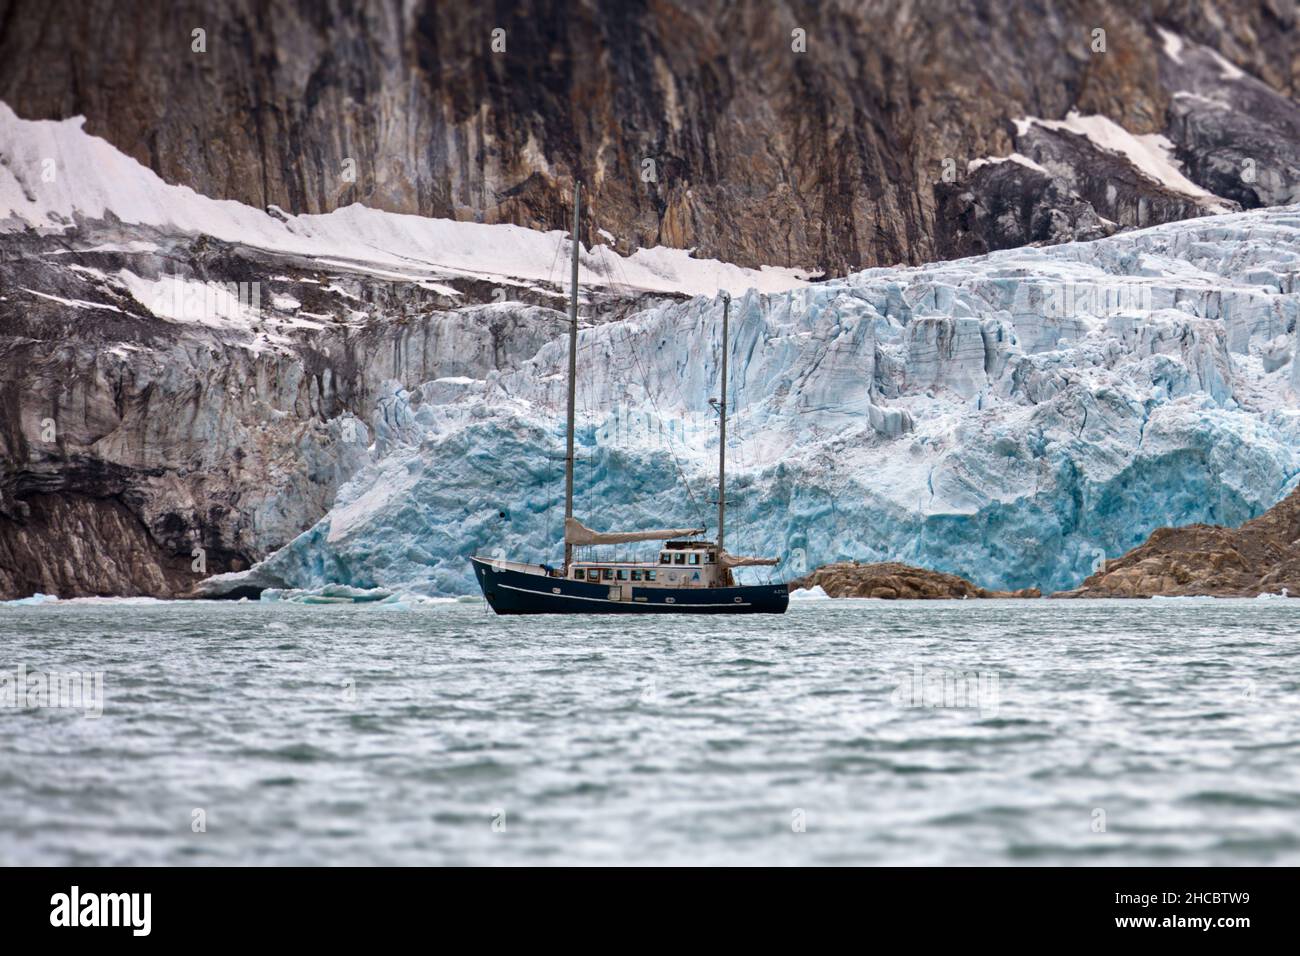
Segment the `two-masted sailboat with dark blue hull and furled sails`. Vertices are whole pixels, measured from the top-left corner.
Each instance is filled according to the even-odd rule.
[[[718,540],[703,528],[593,531],[573,516],[573,405],[577,381],[577,264],[581,183],[573,185],[573,264],[569,285],[568,431],[564,455],[564,564],[549,567],[474,555],[469,561],[488,604],[498,614],[783,614],[785,584],[737,584],[732,568],[772,566],[779,558],[746,558],[723,546],[727,527],[727,320],[723,293],[722,398],[718,433]],[[650,561],[576,559],[573,549],[660,541]]]

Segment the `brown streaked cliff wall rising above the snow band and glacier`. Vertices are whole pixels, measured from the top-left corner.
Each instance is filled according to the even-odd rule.
[[[1173,62],[1157,25],[1261,82],[1225,86],[1201,69],[1208,52]],[[1169,131],[1199,183],[1282,202],[1300,150],[1278,126],[1295,117],[1297,48],[1286,0],[0,0],[0,99],[29,118],[83,113],[168,181],[259,208],[360,202],[554,229],[581,177],[588,238],[841,274],[1088,238],[1082,202],[1119,226],[1193,215],[1148,181],[1117,200],[1140,216],[1095,203],[1096,182],[1027,179],[1024,196],[1008,195],[1011,170],[944,182],[945,160],[1009,153],[1023,116],[1075,108]],[[1231,109],[1205,113],[1184,86]],[[1270,126],[1268,144],[1254,134]],[[1238,189],[1251,156],[1258,185]],[[962,219],[984,225],[953,229]]]

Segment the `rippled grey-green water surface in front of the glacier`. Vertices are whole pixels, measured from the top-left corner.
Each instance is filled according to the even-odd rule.
[[[104,700],[0,708],[4,864],[1300,862],[1295,601],[0,606],[20,666]]]

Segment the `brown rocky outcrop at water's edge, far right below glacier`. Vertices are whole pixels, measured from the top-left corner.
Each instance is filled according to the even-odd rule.
[[[1053,597],[1300,597],[1300,489],[1239,528],[1158,528]]]

